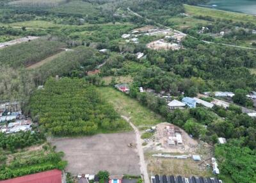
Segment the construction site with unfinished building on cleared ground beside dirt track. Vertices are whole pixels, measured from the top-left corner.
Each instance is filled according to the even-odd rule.
[[[147,142],[144,151],[150,173],[212,175],[212,147],[170,123],[156,126],[154,137]]]

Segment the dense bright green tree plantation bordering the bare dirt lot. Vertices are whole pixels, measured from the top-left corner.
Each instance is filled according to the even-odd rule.
[[[34,120],[57,136],[122,131],[128,126],[83,79],[48,79],[44,89],[33,93],[30,107]]]

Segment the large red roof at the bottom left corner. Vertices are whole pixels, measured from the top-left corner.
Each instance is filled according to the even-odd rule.
[[[49,170],[14,179],[2,180],[0,183],[61,183],[61,171]]]

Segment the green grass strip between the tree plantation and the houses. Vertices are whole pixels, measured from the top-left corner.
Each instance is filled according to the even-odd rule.
[[[163,122],[163,118],[159,115],[150,111],[147,107],[141,106],[137,100],[131,99],[131,97],[114,88],[101,87],[98,90],[108,102],[113,104],[120,115],[131,117],[132,123],[137,127],[152,126]]]

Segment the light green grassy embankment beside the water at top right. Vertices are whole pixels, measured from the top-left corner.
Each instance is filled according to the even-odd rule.
[[[228,20],[241,21],[241,22],[253,22],[256,24],[256,17],[253,15],[246,15],[243,13],[226,12],[223,10],[212,10],[210,8],[189,6],[188,4],[184,4],[184,8],[185,8],[186,13],[188,13],[189,15],[210,16],[215,19],[228,19]]]

